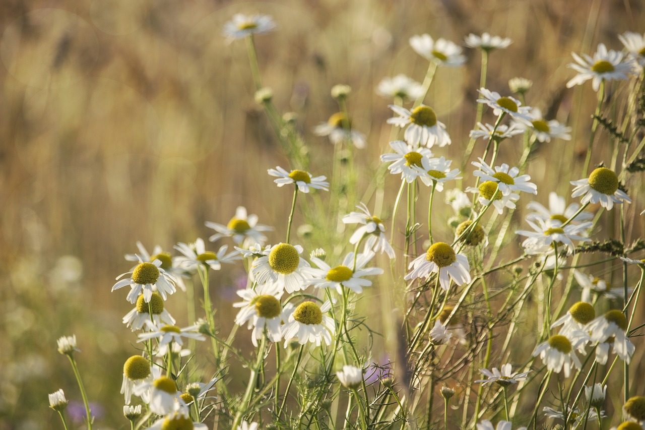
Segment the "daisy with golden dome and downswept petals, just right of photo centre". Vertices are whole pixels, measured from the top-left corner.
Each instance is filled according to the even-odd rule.
[[[405,280],[416,278],[429,278],[430,274],[436,272],[439,276],[439,283],[442,289],[448,291],[450,280],[457,285],[471,281],[470,265],[468,258],[463,254],[457,254],[448,243],[434,243],[426,254],[421,254],[408,266],[408,274]]]

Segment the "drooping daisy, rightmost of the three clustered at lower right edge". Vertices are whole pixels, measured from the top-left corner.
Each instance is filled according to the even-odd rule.
[[[630,363],[635,346],[627,338],[627,318],[618,309],[606,312],[591,321],[586,329],[590,332],[593,343],[600,342],[596,347],[596,361],[600,364],[607,362],[610,344],[613,351],[626,363]],[[600,352],[599,352],[600,350]]]

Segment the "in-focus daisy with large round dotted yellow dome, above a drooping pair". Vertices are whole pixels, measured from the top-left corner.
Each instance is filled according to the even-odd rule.
[[[253,261],[251,273],[255,282],[278,284],[289,294],[304,290],[311,266],[301,258],[302,253],[303,247],[289,243],[279,243],[266,249],[264,256]]]

